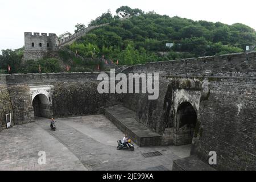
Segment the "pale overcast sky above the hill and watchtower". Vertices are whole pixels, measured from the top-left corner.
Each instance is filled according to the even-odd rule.
[[[256,30],[255,0],[0,0],[0,50],[24,46],[26,31],[73,32],[75,24],[87,25],[108,9],[115,14],[118,7],[126,5],[171,17],[238,22]]]

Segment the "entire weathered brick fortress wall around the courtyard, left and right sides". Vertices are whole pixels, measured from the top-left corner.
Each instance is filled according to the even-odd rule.
[[[216,151],[216,169],[255,170],[256,52],[148,63],[123,71],[134,72],[159,73],[158,100],[148,100],[147,94],[100,95],[99,73],[5,75],[0,85],[9,91],[15,125],[34,119],[29,87],[50,84],[54,94],[48,99],[56,116],[100,113],[123,101],[139,122],[163,136],[163,145],[191,142],[188,133],[195,131],[191,154],[207,162],[209,152]],[[195,110],[195,126],[181,122],[184,103],[192,106],[184,113]]]

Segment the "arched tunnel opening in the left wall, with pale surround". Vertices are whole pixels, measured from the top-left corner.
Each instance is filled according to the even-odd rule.
[[[38,94],[32,101],[35,117],[51,118],[51,105],[46,95]]]

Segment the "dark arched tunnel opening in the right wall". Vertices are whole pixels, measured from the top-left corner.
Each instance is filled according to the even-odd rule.
[[[177,108],[176,144],[191,144],[197,122],[197,114],[189,102],[183,102]]]

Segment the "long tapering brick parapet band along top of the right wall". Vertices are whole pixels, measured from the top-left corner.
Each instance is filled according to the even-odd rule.
[[[134,65],[125,72],[179,76],[256,76],[256,52],[160,61]]]

